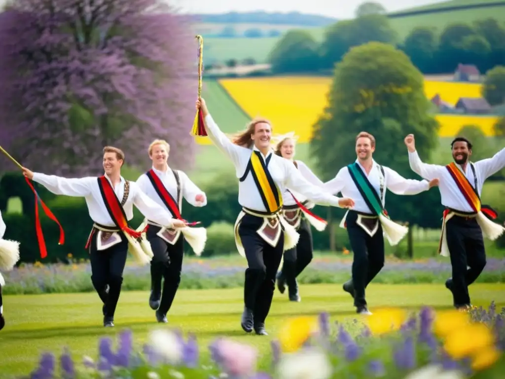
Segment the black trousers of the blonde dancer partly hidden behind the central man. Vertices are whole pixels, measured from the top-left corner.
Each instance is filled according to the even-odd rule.
[[[288,288],[296,287],[296,277],[311,263],[313,257],[311,224],[305,217],[301,218],[298,234],[300,238],[296,246],[284,252],[282,274]]]

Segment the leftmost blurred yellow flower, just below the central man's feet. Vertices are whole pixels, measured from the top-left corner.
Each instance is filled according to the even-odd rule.
[[[288,319],[279,332],[279,344],[283,352],[298,350],[309,337],[316,333],[318,322],[316,317],[301,316]]]

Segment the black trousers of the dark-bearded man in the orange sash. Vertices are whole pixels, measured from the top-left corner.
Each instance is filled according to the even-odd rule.
[[[468,286],[486,265],[482,230],[477,219],[452,216],[445,224],[447,247],[452,266],[452,295],[455,306],[470,304]],[[467,266],[470,269],[467,269]]]

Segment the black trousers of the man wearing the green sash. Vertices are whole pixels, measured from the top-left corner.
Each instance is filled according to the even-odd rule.
[[[371,237],[363,228],[356,223],[358,213],[349,211],[345,219],[347,234],[349,235],[350,247],[354,254],[352,260],[352,284],[354,286],[354,305],[366,306],[365,289],[372,279],[384,267],[384,236],[382,225],[374,236]]]

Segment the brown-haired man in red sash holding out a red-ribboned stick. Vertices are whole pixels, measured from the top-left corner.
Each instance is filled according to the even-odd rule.
[[[160,225],[168,228],[185,226],[184,221],[173,219],[170,213],[149,199],[135,182],[121,176],[124,160],[121,150],[108,146],[104,148],[103,176],[68,179],[23,168],[26,177],[42,184],[53,194],[86,200],[93,227],[85,248],[89,248],[91,282],[104,303],[106,327],[114,326],[128,245],[137,259],[145,263],[150,260],[146,257],[146,245],[138,242],[141,233],[128,225],[133,218],[133,205]]]

